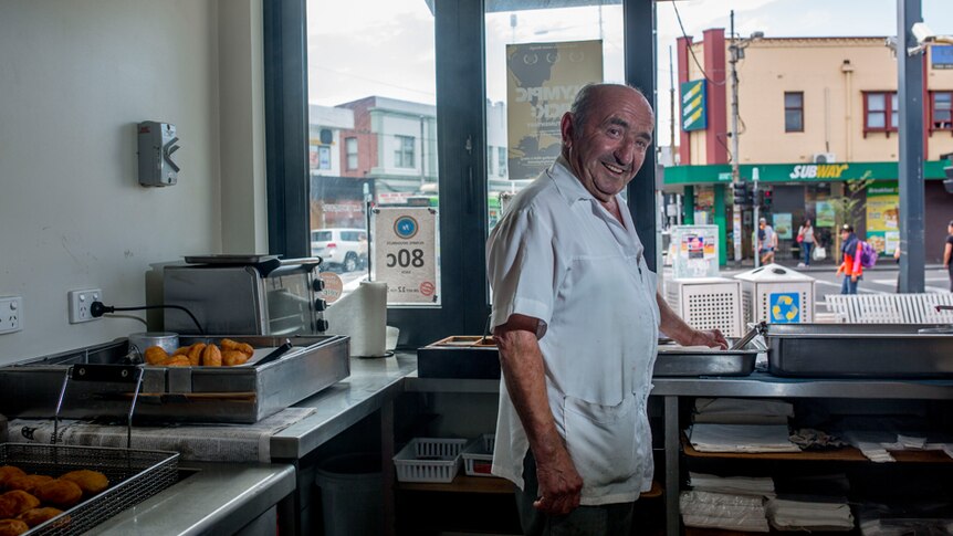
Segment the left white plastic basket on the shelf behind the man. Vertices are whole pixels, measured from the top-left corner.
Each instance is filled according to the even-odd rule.
[[[465,439],[413,438],[394,456],[400,482],[452,482]]]

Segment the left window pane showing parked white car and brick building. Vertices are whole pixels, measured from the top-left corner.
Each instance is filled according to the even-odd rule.
[[[312,254],[347,292],[373,262],[370,208],[439,200],[433,14],[422,0],[306,8],[308,125],[323,136],[312,140]]]

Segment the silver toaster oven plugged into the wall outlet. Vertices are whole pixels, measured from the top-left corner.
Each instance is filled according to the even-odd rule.
[[[163,299],[189,309],[207,334],[312,335],[327,330],[321,259],[276,255],[187,256],[165,266]],[[166,308],[165,329],[197,334],[189,316]]]

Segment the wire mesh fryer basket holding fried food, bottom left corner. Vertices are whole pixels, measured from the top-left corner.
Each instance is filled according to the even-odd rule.
[[[28,474],[51,476],[80,469],[104,473],[109,479],[106,491],[25,533],[30,536],[71,535],[84,533],[175,484],[179,454],[105,446],[2,443],[0,465],[15,465]]]

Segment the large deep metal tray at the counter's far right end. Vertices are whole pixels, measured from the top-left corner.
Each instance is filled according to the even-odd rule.
[[[953,376],[953,334],[922,324],[768,324],[768,371],[818,378]]]

